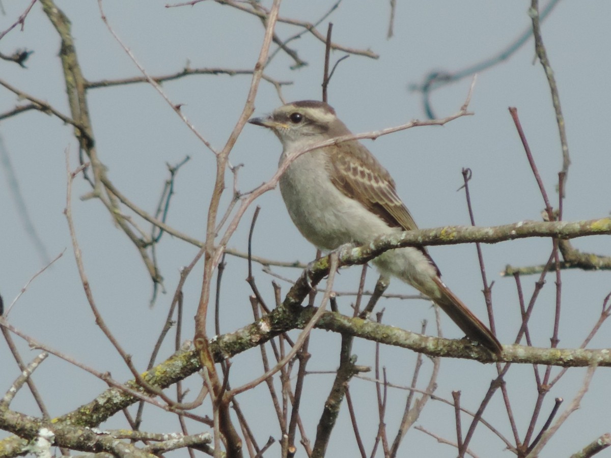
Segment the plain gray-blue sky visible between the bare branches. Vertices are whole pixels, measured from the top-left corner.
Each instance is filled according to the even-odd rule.
[[[0,16],[0,30],[6,29],[29,2],[4,1],[5,15]],[[104,12],[114,30],[129,46],[150,75],[166,75],[192,68],[252,68],[262,43],[263,27],[257,18],[213,2],[194,7],[166,9],[161,1],[104,1]],[[316,21],[331,2],[285,2],[280,15]],[[331,16],[333,40],[345,46],[371,49],[379,59],[351,56],[335,71],[329,87],[329,103],[353,132],[364,132],[406,123],[412,118],[425,118],[422,98],[408,91],[408,85],[422,81],[430,71],[458,71],[495,56],[510,45],[527,27],[529,2],[397,2],[395,35],[386,38],[389,20],[387,2],[373,5],[368,1],[345,0]],[[87,79],[126,78],[139,71],[109,34],[100,19],[97,2],[66,2],[58,5],[70,17],[77,52]],[[567,220],[592,219],[609,214],[611,203],[611,155],[605,113],[610,101],[608,75],[609,24],[611,3],[608,1],[560,2],[543,24],[543,38],[554,68],[562,101],[573,164],[569,171],[564,216]],[[326,23],[318,27],[326,31]],[[277,34],[286,38],[299,29],[279,24]],[[323,43],[305,34],[291,42],[299,56],[309,65],[290,70],[291,60],[280,53],[266,69],[266,74],[279,81],[292,81],[284,87],[287,101],[320,99],[320,82],[324,53]],[[48,101],[68,114],[65,87],[57,52],[59,40],[43,15],[34,5],[27,16],[24,31],[13,31],[2,38],[0,51],[10,54],[16,48],[34,50],[27,60],[27,69],[9,62],[0,62],[0,78],[21,90]],[[274,47],[272,49],[275,49]],[[332,59],[345,55],[340,51]],[[530,172],[518,134],[508,113],[508,106],[518,107],[530,147],[535,156],[552,205],[557,206],[557,173],[561,152],[557,125],[552,109],[549,87],[543,70],[534,59],[532,40],[495,67],[482,71],[477,78],[470,109],[475,115],[455,120],[443,128],[422,127],[381,137],[365,144],[390,170],[397,181],[398,193],[411,209],[420,227],[468,224],[464,192],[456,192],[463,178],[461,169],[470,167],[473,178],[470,190],[478,225],[500,225],[519,220],[540,220],[543,200]],[[534,65],[533,65],[533,62]],[[216,148],[221,148],[243,107],[250,85],[249,76],[191,76],[166,82],[163,88],[173,103],[185,104],[182,111],[198,131]],[[470,79],[463,79],[433,93],[437,117],[458,111],[463,104]],[[12,93],[0,88],[0,112],[20,103]],[[264,114],[279,106],[276,90],[262,82],[257,95],[256,113]],[[141,208],[152,212],[167,178],[166,162],[175,164],[191,156],[191,161],[178,174],[175,197],[168,222],[179,230],[203,239],[207,205],[213,187],[214,158],[189,131],[166,102],[146,84],[90,92],[89,108],[95,129],[98,153],[109,169],[115,186],[130,196]],[[36,278],[10,313],[13,325],[51,346],[77,358],[100,371],[112,371],[118,380],[130,378],[119,355],[104,340],[93,322],[82,293],[70,245],[65,207],[66,172],[64,151],[70,153],[71,167],[76,167],[78,148],[71,128],[57,118],[40,112],[26,112],[0,123],[4,143],[3,158],[10,158],[24,202],[35,230],[54,257],[67,249],[51,269]],[[243,163],[238,187],[252,189],[273,175],[280,154],[280,144],[264,129],[246,126],[232,151],[233,164]],[[0,294],[9,305],[25,283],[45,265],[39,252],[24,233],[21,215],[7,183],[7,167],[0,174]],[[227,176],[230,180],[230,175]],[[228,181],[230,183],[230,181]],[[155,307],[148,308],[151,296],[150,278],[136,250],[122,231],[112,224],[108,213],[96,200],[81,201],[78,197],[89,188],[77,180],[73,212],[76,230],[84,255],[87,274],[98,307],[109,327],[120,336],[126,351],[144,367],[152,343],[163,325],[167,306],[179,278],[179,269],[190,263],[197,249],[171,239],[159,245],[161,273],[169,294],[160,295]],[[226,202],[225,202],[226,203]],[[293,227],[277,191],[263,195],[255,228],[254,252],[283,261],[312,260],[314,250]],[[247,212],[236,232],[231,247],[246,249],[247,231],[252,216]],[[579,239],[574,245],[584,251],[604,255],[611,252],[609,237]],[[506,264],[526,266],[547,260],[551,241],[547,239],[506,242],[484,247],[489,280],[494,280],[494,310],[497,335],[502,343],[510,343],[519,328],[516,288],[511,278],[497,273]],[[475,248],[467,245],[434,247],[433,258],[444,273],[444,281],[475,313],[485,317],[481,295],[481,278]],[[252,321],[247,296],[250,290],[243,281],[246,263],[228,256],[228,267],[222,286],[221,326],[230,332]],[[294,269],[274,269],[296,278]],[[342,271],[336,288],[356,289],[359,269]],[[196,269],[185,287],[185,338],[192,336],[192,320],[199,299],[201,269]],[[271,303],[271,277],[257,266],[257,283]],[[368,275],[368,288],[375,283],[375,272]],[[563,316],[560,325],[560,346],[578,345],[598,318],[602,299],[609,293],[608,272],[563,272]],[[530,297],[534,277],[522,278],[525,294]],[[288,285],[282,283],[283,291]],[[398,282],[392,293],[411,294],[414,290]],[[533,315],[533,341],[549,345],[554,311],[554,279],[547,284]],[[434,315],[428,302],[393,302],[382,300],[384,321],[419,330],[420,322]],[[349,299],[340,301],[340,310],[348,313]],[[453,338],[461,333],[444,317],[444,335]],[[429,327],[432,331],[432,327]],[[211,329],[210,329],[211,332]],[[337,367],[339,336],[317,331],[313,333],[309,369],[332,371]],[[609,347],[609,331],[605,327],[592,341],[591,347]],[[26,346],[21,344],[26,358]],[[171,352],[166,346],[161,357]],[[362,365],[373,364],[373,345],[357,342],[354,352]],[[408,383],[415,355],[411,352],[382,348],[389,379]],[[0,344],[0,391],[5,390],[18,375],[5,344]],[[426,372],[430,370],[427,366]],[[262,371],[256,349],[235,358],[232,384],[237,386]],[[511,369],[507,387],[514,413],[519,421],[521,437],[527,429],[536,396],[531,367]],[[481,396],[495,376],[493,366],[474,362],[444,360],[439,377],[438,396],[451,399],[452,390],[462,390],[464,407],[475,410]],[[580,386],[585,370],[569,371],[543,405],[543,424],[554,398],[572,399]],[[46,383],[52,377],[53,383]],[[307,404],[303,412],[309,438],[315,437],[316,421],[332,382],[332,375],[312,375],[304,393]],[[192,377],[195,378],[195,377]],[[79,369],[51,358],[35,374],[38,387],[48,401],[51,415],[61,415],[90,401],[104,390],[100,380],[84,375]],[[574,413],[544,449],[542,457],[565,456],[580,449],[598,435],[609,432],[609,371],[599,369],[582,409]],[[193,380],[197,386],[197,380]],[[375,387],[370,382],[353,380],[353,396],[359,402],[362,423],[359,423],[367,449],[377,429]],[[268,393],[257,388],[256,397],[241,396],[244,409],[251,413],[251,426],[260,443],[269,435],[278,437],[276,421],[257,421],[269,409]],[[387,425],[392,437],[402,413],[404,394],[391,390],[393,409]],[[604,401],[604,402],[601,402]],[[20,393],[15,409],[36,413],[29,396]],[[561,411],[566,405],[561,407]],[[368,414],[366,414],[368,412]],[[203,409],[200,412],[203,413]],[[271,410],[263,416],[271,415]],[[118,418],[118,416],[117,416]],[[511,436],[507,415],[497,393],[485,418]],[[178,430],[175,420],[163,414],[148,416],[143,429],[147,431]],[[465,419],[464,421],[467,421]],[[455,440],[453,410],[440,403],[428,405],[418,424],[435,434]],[[104,426],[122,426],[119,420]],[[193,427],[197,431],[198,426]],[[478,456],[500,456],[504,445],[483,427],[478,429],[470,447]],[[0,436],[3,437],[3,436]],[[337,431],[329,446],[328,456],[353,456],[353,432],[347,412],[342,412]],[[349,447],[348,451],[343,447]],[[455,456],[455,449],[437,442],[421,432],[408,432],[403,456]],[[301,452],[300,452],[301,453]],[[507,455],[507,452],[505,453]],[[603,456],[604,454],[601,454]],[[303,454],[299,455],[303,456]]]

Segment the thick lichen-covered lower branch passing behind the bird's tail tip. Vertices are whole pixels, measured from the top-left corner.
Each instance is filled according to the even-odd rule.
[[[309,275],[320,280],[326,268],[328,266],[326,266],[326,258],[324,258],[315,264]],[[299,282],[291,288],[292,296],[290,295],[290,297],[292,299],[287,297],[285,304],[296,302],[297,297],[301,295],[302,282],[307,283],[307,280],[300,278]],[[305,290],[306,292],[303,297],[307,295],[307,286],[305,286]],[[296,306],[276,308],[257,322],[235,332],[215,336],[210,341],[210,349],[214,354],[215,360],[220,362],[225,358],[264,344],[280,333],[303,327],[310,321],[316,310],[314,307]],[[611,352],[608,349],[557,349],[506,345],[503,346],[503,354],[497,357],[485,348],[478,346],[477,343],[469,340],[448,340],[425,336],[394,326],[360,318],[351,318],[334,312],[323,313],[316,327],[318,329],[342,333],[342,335],[351,335],[365,340],[410,349],[430,356],[465,358],[481,363],[504,361],[561,367],[587,367],[592,365],[611,367]],[[200,369],[197,351],[181,351],[152,370],[147,371],[143,376],[151,385],[167,388]],[[132,390],[145,393],[144,388],[139,387],[134,380],[130,380],[126,385]],[[110,416],[139,400],[136,396],[126,393],[119,388],[109,388],[89,404],[82,405],[73,412],[55,418],[53,423],[66,423],[73,426],[98,426]],[[35,428],[27,432],[17,429],[9,413],[7,411],[0,412],[1,429],[11,432],[20,431],[23,437],[29,438],[35,434],[35,431],[37,431]],[[32,418],[32,421],[34,420],[35,423],[42,421]],[[15,437],[6,438],[0,441],[0,450],[15,451],[16,449],[21,449],[26,443],[27,441],[23,439],[18,440]]]

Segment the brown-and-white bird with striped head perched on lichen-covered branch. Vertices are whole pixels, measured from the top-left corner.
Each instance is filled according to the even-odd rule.
[[[276,134],[283,148],[279,164],[324,140],[351,134],[329,104],[316,100],[284,104],[249,123]],[[390,173],[358,140],[301,154],[280,176],[279,186],[291,220],[321,250],[418,228]],[[372,263],[382,275],[398,277],[429,297],[467,338],[494,354],[502,352],[491,330],[442,282],[426,247],[388,250]]]

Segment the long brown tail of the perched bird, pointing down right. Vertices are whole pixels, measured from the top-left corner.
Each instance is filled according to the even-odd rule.
[[[439,287],[439,296],[435,297],[434,302],[441,307],[441,310],[452,318],[460,329],[466,333],[467,337],[476,340],[489,349],[491,352],[500,355],[503,347],[494,336],[491,330],[481,322],[463,302],[456,297],[441,278],[434,277],[435,283]]]

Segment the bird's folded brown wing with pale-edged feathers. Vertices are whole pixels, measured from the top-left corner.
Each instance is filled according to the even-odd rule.
[[[390,227],[406,231],[418,228],[397,195],[392,176],[367,148],[357,141],[344,142],[337,145],[337,150],[327,148],[327,154],[331,159],[331,181],[343,194],[359,201]],[[441,275],[426,248],[422,247],[420,251],[435,267],[437,275]]]

